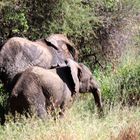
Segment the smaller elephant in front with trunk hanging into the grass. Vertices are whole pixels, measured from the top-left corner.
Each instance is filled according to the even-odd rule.
[[[47,116],[48,110],[59,108],[64,114],[74,95],[92,92],[99,113],[103,112],[99,86],[90,70],[82,63],[67,59],[67,66],[44,69],[33,66],[14,78],[9,98],[9,112]],[[16,81],[16,82],[15,82]]]

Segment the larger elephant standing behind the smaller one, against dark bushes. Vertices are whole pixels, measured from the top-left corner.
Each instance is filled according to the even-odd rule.
[[[31,66],[48,69],[65,65],[67,58],[77,59],[77,51],[63,34],[30,41],[12,37],[0,48],[0,78],[7,90],[13,77]]]

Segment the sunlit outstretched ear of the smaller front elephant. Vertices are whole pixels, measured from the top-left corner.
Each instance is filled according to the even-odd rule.
[[[67,65],[70,67],[71,76],[74,82],[74,91],[76,93],[79,92],[80,82],[79,82],[79,75],[81,73],[81,67],[78,63],[73,61],[72,59],[67,59]]]

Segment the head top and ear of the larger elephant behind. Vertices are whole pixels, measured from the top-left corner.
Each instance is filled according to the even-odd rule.
[[[78,51],[65,35],[52,34],[45,41],[47,45],[54,47],[56,50],[63,51],[66,58],[78,59]]]

